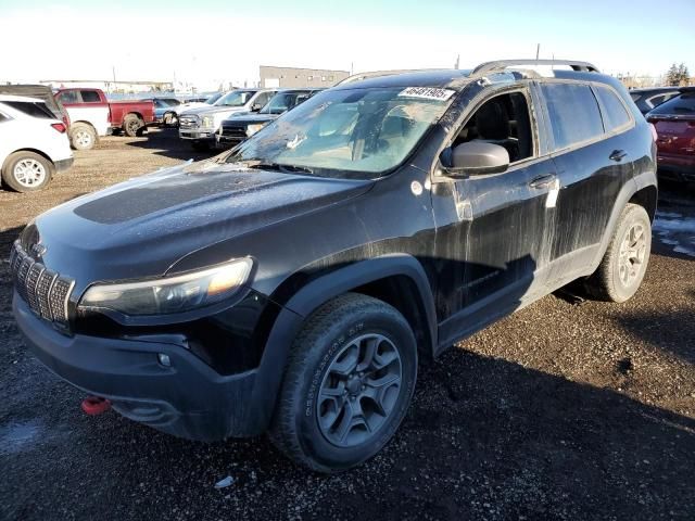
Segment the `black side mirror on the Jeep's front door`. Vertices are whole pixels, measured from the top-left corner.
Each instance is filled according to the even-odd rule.
[[[500,174],[509,167],[509,152],[498,144],[469,141],[444,150],[441,161],[453,178]]]

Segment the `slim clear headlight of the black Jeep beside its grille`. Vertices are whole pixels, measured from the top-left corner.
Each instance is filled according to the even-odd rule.
[[[252,265],[250,258],[241,258],[163,279],[92,285],[79,307],[112,309],[124,315],[184,313],[233,294],[247,281]]]

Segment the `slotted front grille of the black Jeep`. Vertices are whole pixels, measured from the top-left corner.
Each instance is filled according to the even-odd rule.
[[[20,241],[14,241],[10,252],[10,269],[17,293],[31,310],[39,317],[66,328],[67,302],[75,281],[61,277],[34,260],[20,245]]]

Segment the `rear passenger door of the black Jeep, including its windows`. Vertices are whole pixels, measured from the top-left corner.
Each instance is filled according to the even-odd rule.
[[[548,81],[540,84],[540,96],[560,188],[549,274],[549,282],[558,285],[591,266],[620,188],[632,177],[637,152],[626,135],[634,119],[611,88]]]

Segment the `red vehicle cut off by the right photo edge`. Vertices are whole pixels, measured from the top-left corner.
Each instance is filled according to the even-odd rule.
[[[695,87],[678,94],[646,115],[656,128],[659,175],[695,181]]]

